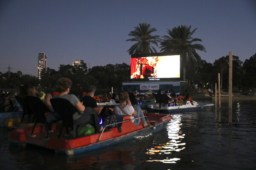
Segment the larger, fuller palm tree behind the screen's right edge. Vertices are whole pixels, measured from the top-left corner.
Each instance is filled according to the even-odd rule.
[[[163,40],[160,43],[161,52],[180,52],[184,76],[186,74],[185,64],[186,68],[189,68],[191,66],[198,67],[201,63],[201,57],[197,54],[196,50],[205,51],[203,45],[194,43],[202,40],[191,37],[197,28],[193,31],[190,31],[190,29],[191,26],[178,26],[172,28],[172,30],[168,29],[167,33],[169,36],[163,36]]]

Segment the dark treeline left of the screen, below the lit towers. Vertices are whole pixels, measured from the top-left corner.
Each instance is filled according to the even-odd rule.
[[[87,69],[86,63],[81,60],[81,65],[60,65],[58,71],[46,68],[42,71],[41,80],[32,75],[23,75],[21,71],[17,73],[0,72],[0,89],[18,89],[19,85],[29,83],[38,89],[54,90],[56,82],[61,77],[67,77],[72,80],[73,93],[80,94],[85,91],[87,86],[95,85],[98,89],[109,89],[114,87],[117,90],[122,89],[122,82],[127,82],[130,77],[130,65],[108,64],[105,66],[95,66]],[[49,92],[51,92],[49,90]],[[100,92],[100,91],[99,91]],[[107,91],[106,91],[107,92]]]

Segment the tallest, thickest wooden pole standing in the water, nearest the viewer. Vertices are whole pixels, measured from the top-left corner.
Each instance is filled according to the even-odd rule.
[[[232,52],[229,52],[229,76],[228,76],[228,122],[232,122]]]

